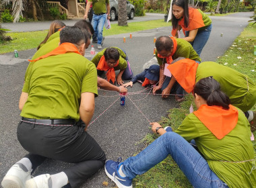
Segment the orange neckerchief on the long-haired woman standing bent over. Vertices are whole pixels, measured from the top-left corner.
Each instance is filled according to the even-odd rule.
[[[184,23],[184,17],[178,22],[179,26],[183,29],[183,33],[185,34],[185,31],[191,31],[195,30],[198,28],[202,28],[205,26],[203,23],[203,15],[199,12],[198,9],[194,9],[192,7],[189,7],[189,26],[185,28],[185,23]],[[177,29],[172,29],[172,36],[175,36],[177,33]]]

